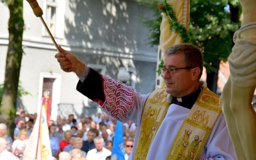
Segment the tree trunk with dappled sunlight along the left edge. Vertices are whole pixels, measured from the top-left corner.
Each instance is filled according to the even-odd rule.
[[[13,135],[16,103],[18,96],[20,64],[22,60],[22,35],[24,28],[23,0],[5,0],[10,10],[8,21],[9,44],[6,56],[3,96],[0,106],[0,122],[8,127]]]

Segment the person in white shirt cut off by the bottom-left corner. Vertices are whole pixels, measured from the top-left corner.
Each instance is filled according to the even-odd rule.
[[[14,156],[12,152],[6,150],[7,142],[4,138],[0,137],[0,159],[18,160],[19,158]]]

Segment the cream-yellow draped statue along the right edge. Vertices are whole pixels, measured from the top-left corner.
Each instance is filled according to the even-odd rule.
[[[221,106],[237,159],[256,159],[256,113],[252,108],[256,86],[256,1],[240,0],[240,3],[243,21],[228,57],[230,77],[221,95]],[[241,150],[245,158],[240,157]]]

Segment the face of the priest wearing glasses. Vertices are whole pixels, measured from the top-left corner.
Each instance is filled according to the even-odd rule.
[[[183,54],[169,54],[164,59],[163,68],[167,69],[162,74],[166,92],[175,97],[183,97],[192,93],[198,87],[198,80],[195,74],[198,68],[188,68],[184,63]],[[180,68],[180,69],[179,69]]]

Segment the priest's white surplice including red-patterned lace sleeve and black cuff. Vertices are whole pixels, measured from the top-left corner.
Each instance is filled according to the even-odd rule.
[[[97,74],[97,72],[92,71],[88,74],[90,75],[88,78],[86,76],[79,77],[81,78],[81,81],[77,83],[77,90],[90,97],[91,92],[86,92],[91,89],[90,86],[103,84],[102,91],[97,88],[97,92],[93,94],[93,101],[100,104],[102,110],[117,120],[122,122],[128,122],[131,120],[137,125],[134,145],[129,156],[129,160],[134,159],[134,154],[138,144],[138,136],[140,134],[140,121],[143,106],[150,94],[143,95],[136,92],[136,90],[134,90],[134,88],[131,86],[127,86],[120,81],[116,81],[115,79],[111,79],[104,75],[101,75],[102,79],[99,81],[100,77],[97,76]],[[87,83],[83,83],[85,77],[89,79],[86,81]],[[98,79],[97,82],[99,84],[95,84],[95,79]],[[102,84],[100,84],[101,81]],[[100,92],[104,93],[104,101],[99,98]],[[95,94],[99,94],[97,95],[98,97],[95,96]],[[154,140],[152,140],[147,157],[141,157],[141,159],[166,159],[170,148],[172,147],[173,140],[189,111],[190,109],[178,106],[177,104],[171,104],[162,124],[159,126]],[[214,125],[199,158],[209,159],[211,157],[213,157],[215,160],[236,160],[236,154],[227,131],[223,113],[220,114],[218,120],[216,121],[216,124]]]

